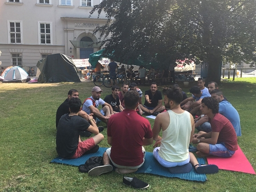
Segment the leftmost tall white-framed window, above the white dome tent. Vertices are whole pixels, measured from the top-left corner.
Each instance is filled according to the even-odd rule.
[[[9,22],[10,43],[21,43],[21,22]]]

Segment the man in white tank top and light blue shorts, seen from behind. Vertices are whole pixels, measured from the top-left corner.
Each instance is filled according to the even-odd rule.
[[[180,103],[183,95],[181,89],[172,88],[163,90],[166,109],[158,114],[153,127],[155,159],[164,167],[168,167],[171,173],[187,173],[191,171],[191,165],[198,173],[217,173],[216,165],[201,165],[193,153],[189,152],[189,143],[193,140],[194,119],[193,116],[181,109]],[[162,129],[162,137],[159,133]],[[160,146],[160,147],[159,147]]]

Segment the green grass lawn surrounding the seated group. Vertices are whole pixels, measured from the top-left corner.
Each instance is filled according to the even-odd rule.
[[[190,82],[189,87],[193,85],[197,82]],[[123,185],[122,175],[115,172],[88,177],[87,173],[79,173],[78,167],[49,163],[57,157],[55,113],[58,106],[70,89],[77,89],[83,101],[91,95],[93,86],[92,82],[0,83],[0,191],[136,191]],[[189,87],[182,87],[188,96],[191,95]],[[110,88],[101,88],[101,98],[111,93]],[[139,88],[144,94],[149,86]],[[238,143],[256,170],[256,78],[236,78],[234,82],[223,82],[219,88],[238,110],[242,127]],[[153,127],[154,120],[149,121]],[[100,125],[106,128],[105,123]],[[103,134],[105,139],[99,146],[109,147],[106,129]],[[145,148],[153,151],[152,145]],[[129,176],[148,182],[149,191],[256,191],[255,175],[225,170],[207,174],[206,182],[149,174]]]

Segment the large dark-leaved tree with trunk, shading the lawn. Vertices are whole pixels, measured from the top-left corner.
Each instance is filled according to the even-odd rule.
[[[108,19],[95,29],[104,53],[121,61],[197,58],[208,63],[208,80],[218,82],[222,61],[255,60],[255,0],[103,0],[95,11]]]

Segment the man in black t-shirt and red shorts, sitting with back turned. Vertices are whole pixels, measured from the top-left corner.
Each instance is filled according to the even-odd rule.
[[[95,153],[98,151],[98,143],[104,136],[99,133],[98,127],[92,116],[87,115],[91,125],[78,115],[82,102],[79,98],[69,100],[70,114],[62,115],[59,119],[56,134],[56,150],[62,158],[78,158],[85,153]],[[80,131],[90,131],[95,135],[85,141],[81,141]]]

